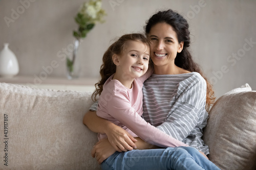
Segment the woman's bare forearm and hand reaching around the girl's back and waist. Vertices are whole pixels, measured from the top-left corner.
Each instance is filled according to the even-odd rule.
[[[88,111],[83,117],[83,124],[91,131],[105,133],[116,151],[127,151],[136,148],[137,140],[124,129],[96,115],[96,111]]]

